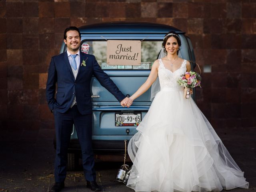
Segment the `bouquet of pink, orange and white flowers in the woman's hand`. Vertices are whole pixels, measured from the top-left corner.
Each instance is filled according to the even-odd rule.
[[[202,78],[200,74],[198,74],[197,72],[190,71],[180,76],[177,83],[185,88],[184,97],[188,99],[190,98],[190,89],[200,86],[201,80]]]

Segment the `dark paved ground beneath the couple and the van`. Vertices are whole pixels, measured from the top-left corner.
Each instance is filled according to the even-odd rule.
[[[256,192],[256,129],[216,130]],[[53,130],[5,131],[0,136],[0,192],[47,192],[54,184]],[[104,192],[131,192],[115,176],[122,162],[97,162],[97,182]],[[90,192],[82,170],[68,172],[63,192]]]

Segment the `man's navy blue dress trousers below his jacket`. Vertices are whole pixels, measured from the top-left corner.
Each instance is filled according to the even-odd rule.
[[[92,150],[92,114],[82,115],[76,105],[65,113],[54,110],[56,131],[55,182],[64,182],[67,173],[68,144],[75,125],[82,150],[84,176],[88,181],[96,180]]]

